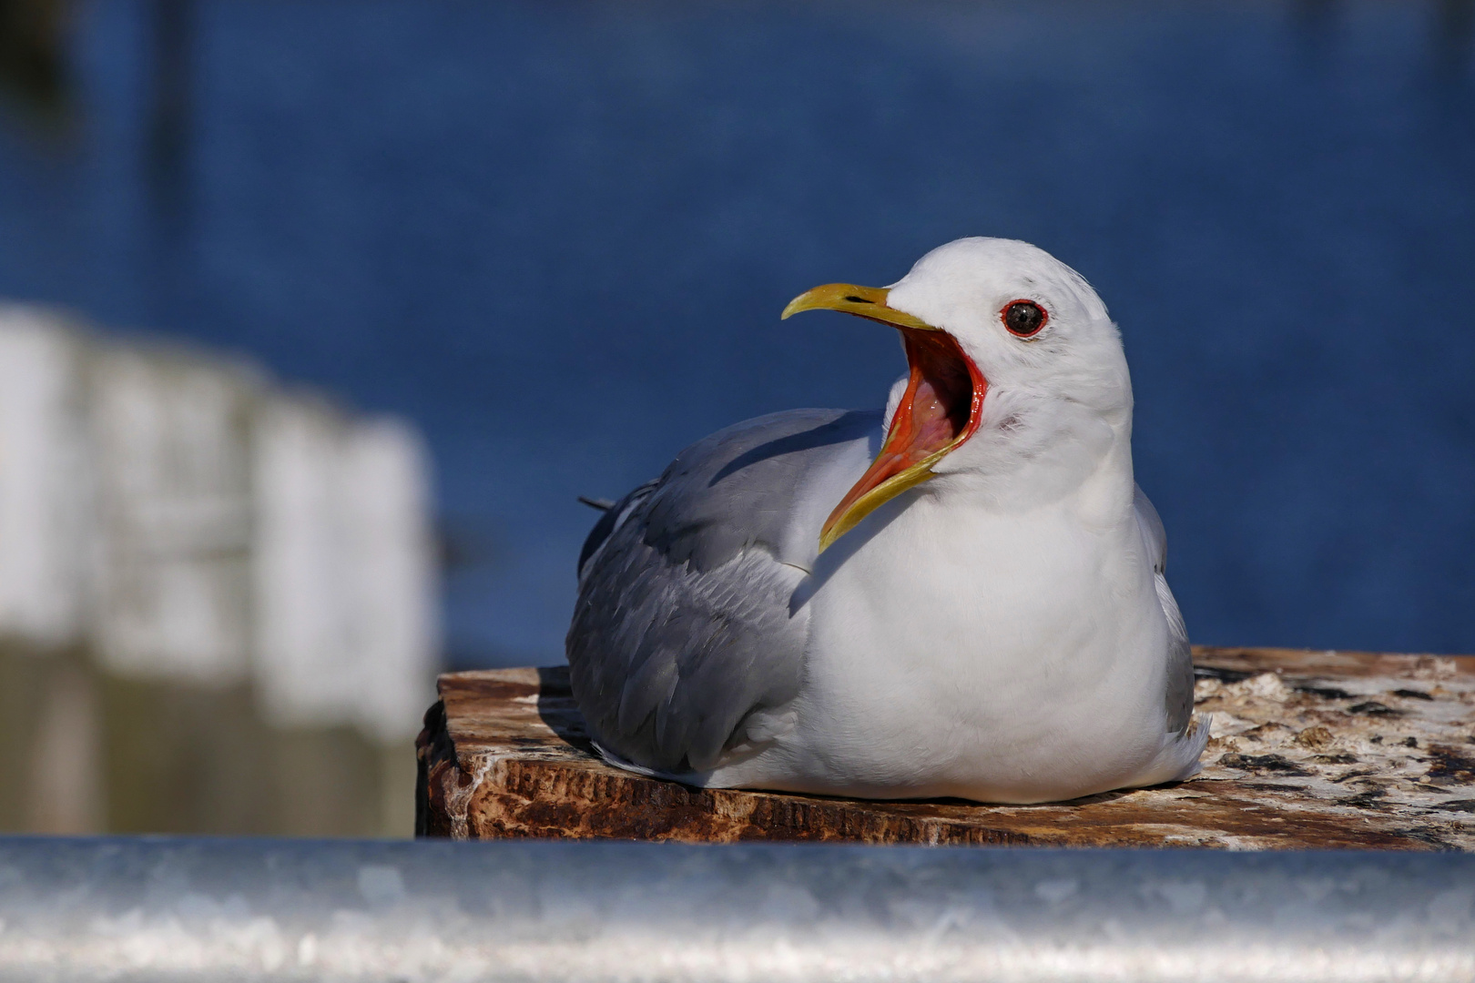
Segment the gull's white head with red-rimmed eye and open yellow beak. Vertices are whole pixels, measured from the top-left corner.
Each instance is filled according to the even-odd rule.
[[[1130,489],[1121,336],[1090,284],[1043,249],[959,239],[891,287],[826,284],[783,315],[816,308],[897,327],[909,363],[881,454],[826,522],[822,548],[934,476],[1002,501],[1040,501],[1121,458]]]

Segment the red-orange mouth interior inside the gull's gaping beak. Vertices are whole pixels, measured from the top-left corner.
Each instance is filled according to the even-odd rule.
[[[988,383],[947,332],[901,332],[912,377],[891,417],[881,454],[835,507],[827,529],[866,492],[938,451],[962,444],[978,429]]]

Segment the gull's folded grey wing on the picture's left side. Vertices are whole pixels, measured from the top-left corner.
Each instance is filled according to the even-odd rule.
[[[605,513],[566,638],[574,697],[602,747],[659,772],[708,771],[796,696],[807,612],[789,598],[879,439],[879,413],[748,420]]]

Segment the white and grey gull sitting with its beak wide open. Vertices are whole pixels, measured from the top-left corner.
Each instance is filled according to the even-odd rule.
[[[813,309],[895,329],[907,373],[884,411],[738,423],[609,506],[566,640],[599,753],[857,799],[1061,802],[1195,774],[1208,719],[1090,284],[974,237],[783,318]]]

